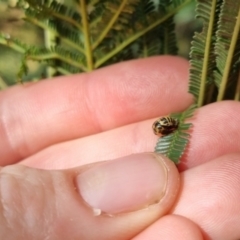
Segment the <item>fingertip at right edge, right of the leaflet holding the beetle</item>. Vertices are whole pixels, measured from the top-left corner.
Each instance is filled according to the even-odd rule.
[[[197,166],[224,154],[240,151],[240,103],[223,101],[195,112],[191,138],[179,170]]]

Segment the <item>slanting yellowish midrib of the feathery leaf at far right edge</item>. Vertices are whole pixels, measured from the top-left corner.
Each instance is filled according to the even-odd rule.
[[[239,31],[240,31],[240,9],[238,11],[238,16],[236,19],[237,21],[233,30],[231,43],[230,43],[229,51],[227,54],[226,64],[223,70],[222,81],[221,81],[221,85],[220,85],[218,96],[217,96],[217,101],[221,101],[224,98],[224,93],[225,93],[227,82],[228,82],[228,75],[232,65],[233,54],[237,44]]]

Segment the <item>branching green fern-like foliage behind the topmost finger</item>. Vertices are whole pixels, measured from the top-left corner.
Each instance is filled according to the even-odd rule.
[[[176,54],[173,17],[191,1],[79,0],[68,6],[56,0],[26,0],[25,19],[52,36],[45,48],[28,46],[26,58],[68,74]]]

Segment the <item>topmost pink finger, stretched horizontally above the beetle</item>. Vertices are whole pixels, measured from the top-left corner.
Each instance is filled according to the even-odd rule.
[[[0,156],[10,159],[2,165],[57,142],[183,110],[192,101],[187,79],[186,60],[153,57],[1,92]]]

